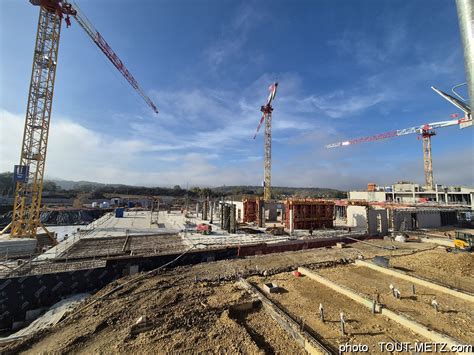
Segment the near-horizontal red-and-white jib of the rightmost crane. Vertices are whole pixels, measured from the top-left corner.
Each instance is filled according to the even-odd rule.
[[[356,138],[348,141],[343,141],[343,142],[337,142],[337,143],[332,143],[326,145],[326,148],[337,148],[337,147],[345,147],[348,145],[353,145],[357,143],[364,143],[364,142],[372,142],[376,140],[381,140],[381,139],[387,139],[387,138],[393,138],[393,137],[398,137],[398,136],[405,136],[408,134],[423,134],[423,132],[433,130],[436,128],[442,128],[442,127],[449,127],[449,126],[454,126],[454,125],[459,125],[460,128],[466,128],[469,126],[472,126],[472,119],[468,117],[463,117],[457,120],[449,120],[449,121],[440,121],[440,122],[433,122],[433,123],[427,123],[424,125],[420,126],[415,126],[415,127],[409,127],[409,128],[404,128],[404,129],[398,129],[396,131],[389,131],[385,133],[380,133],[376,134],[374,136],[368,136],[368,137],[362,137],[362,138]]]

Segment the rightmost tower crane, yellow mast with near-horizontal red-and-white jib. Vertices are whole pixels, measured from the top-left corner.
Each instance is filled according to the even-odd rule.
[[[328,144],[326,145],[326,148],[345,147],[348,145],[364,143],[364,142],[372,142],[376,140],[399,137],[399,136],[405,136],[408,134],[418,134],[421,136],[422,141],[423,141],[423,166],[424,166],[424,172],[425,172],[425,187],[433,190],[434,180],[433,180],[433,162],[431,158],[431,137],[436,135],[435,129],[454,126],[454,125],[459,125],[460,128],[470,127],[472,126],[472,116],[471,116],[471,109],[467,104],[459,101],[458,99],[434,87],[432,87],[432,89],[436,91],[439,95],[444,97],[446,100],[451,102],[453,105],[455,105],[457,108],[464,111],[465,116],[460,119],[427,123],[420,126],[376,134],[374,136],[362,137],[362,138],[352,139],[349,141]],[[457,117],[457,116],[458,116],[457,114],[452,115],[452,117]]]

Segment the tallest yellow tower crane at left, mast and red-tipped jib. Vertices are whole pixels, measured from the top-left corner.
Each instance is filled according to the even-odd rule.
[[[30,0],[30,3],[39,6],[39,20],[20,164],[15,165],[13,174],[15,201],[10,234],[34,238],[38,227],[44,228],[40,223],[41,195],[62,20],[69,27],[73,17],[153,112],[158,113],[158,109],[75,3],[68,0]]]

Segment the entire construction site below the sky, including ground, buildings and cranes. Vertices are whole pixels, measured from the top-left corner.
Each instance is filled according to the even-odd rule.
[[[74,202],[43,196],[61,25],[80,26],[158,108],[77,4],[30,3],[39,21],[24,136],[14,195],[0,199],[0,353],[474,353],[474,187],[438,184],[431,151],[445,127],[472,137],[472,0],[452,4],[470,101],[432,88],[459,114],[326,145],[417,135],[423,184],[277,196],[272,116],[285,82],[274,81],[255,114],[262,194]]]

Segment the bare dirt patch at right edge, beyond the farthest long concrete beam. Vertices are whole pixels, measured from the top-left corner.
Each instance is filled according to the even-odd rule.
[[[414,276],[474,293],[474,253],[448,253],[443,247],[407,256],[394,256],[390,266]]]

